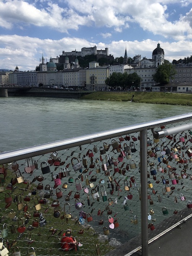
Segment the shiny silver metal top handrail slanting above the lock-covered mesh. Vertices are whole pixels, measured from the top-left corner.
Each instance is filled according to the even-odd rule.
[[[126,135],[129,133],[139,132],[145,129],[151,129],[155,127],[160,127],[161,125],[167,125],[170,123],[176,123],[178,121],[186,121],[192,119],[192,113],[177,115],[169,118],[159,119],[155,121],[149,121],[145,123],[140,123],[136,125],[126,126],[118,129],[107,130],[91,135],[84,135],[79,137],[74,137],[66,140],[54,141],[46,144],[41,144],[38,146],[33,146],[29,148],[21,148],[13,151],[3,152],[0,154],[0,164],[5,164],[9,162],[14,162],[22,160],[25,158],[43,155],[51,153],[53,151],[59,151],[66,148],[77,147],[85,145],[88,143],[93,143],[96,141],[110,139],[112,137]]]

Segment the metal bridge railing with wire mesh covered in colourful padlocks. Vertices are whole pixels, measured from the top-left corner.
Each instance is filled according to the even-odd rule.
[[[127,256],[140,248],[147,256],[148,241],[191,216],[191,120],[189,113],[1,153],[3,243],[59,255],[62,232],[72,229],[83,244],[76,255],[107,255],[129,241]]]

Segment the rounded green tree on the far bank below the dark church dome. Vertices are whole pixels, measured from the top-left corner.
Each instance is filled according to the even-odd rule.
[[[173,76],[176,74],[174,65],[170,63],[164,63],[159,65],[157,72],[153,75],[153,80],[157,83],[168,84],[170,78],[173,79]]]

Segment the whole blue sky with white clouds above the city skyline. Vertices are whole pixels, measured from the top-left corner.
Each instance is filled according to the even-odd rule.
[[[0,0],[0,69],[95,45],[150,59],[158,43],[170,62],[192,55],[192,0]]]

